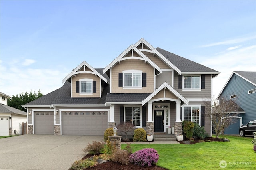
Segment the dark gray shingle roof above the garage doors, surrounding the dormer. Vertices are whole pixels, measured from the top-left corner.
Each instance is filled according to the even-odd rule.
[[[30,103],[27,103],[25,106],[33,105],[72,105],[72,104],[105,104],[106,94],[109,93],[109,85],[104,88],[102,92],[102,97],[99,98],[71,98],[71,83],[66,81],[64,85],[47,95],[44,95]]]

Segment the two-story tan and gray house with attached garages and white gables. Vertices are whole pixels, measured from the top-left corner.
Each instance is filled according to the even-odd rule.
[[[143,38],[104,69],[85,61],[63,79],[64,85],[24,105],[30,134],[104,134],[132,122],[148,134],[182,133],[182,121],[204,126],[211,135],[204,101],[211,101],[218,71],[161,48]]]

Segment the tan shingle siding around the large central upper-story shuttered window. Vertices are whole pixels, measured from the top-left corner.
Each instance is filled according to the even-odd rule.
[[[141,70],[147,73],[147,87],[142,87],[142,89],[123,89],[119,87],[119,73],[124,70]],[[152,93],[154,91],[154,68],[148,63],[136,59],[128,59],[117,63],[111,69],[111,93]]]

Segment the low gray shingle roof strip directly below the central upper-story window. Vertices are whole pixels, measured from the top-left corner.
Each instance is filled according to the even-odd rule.
[[[106,102],[141,102],[151,93],[108,93]]]

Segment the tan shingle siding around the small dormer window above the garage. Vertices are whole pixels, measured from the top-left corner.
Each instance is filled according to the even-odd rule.
[[[79,81],[79,79],[92,79],[96,81],[96,93],[92,95],[80,95],[76,93],[76,81]],[[80,73],[77,74],[76,77],[72,77],[72,97],[100,97],[100,77],[90,73]]]

